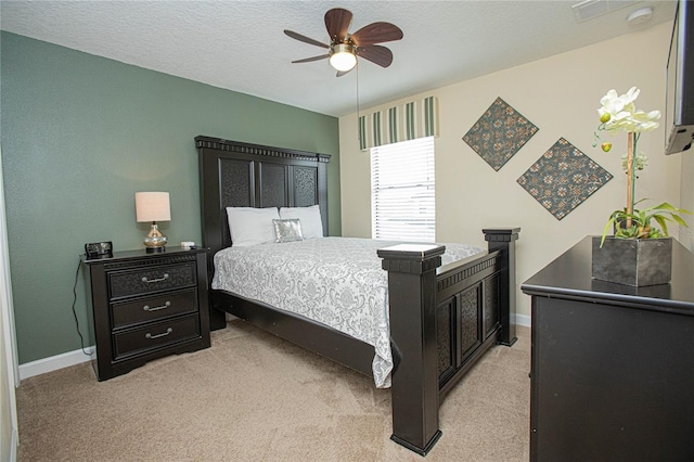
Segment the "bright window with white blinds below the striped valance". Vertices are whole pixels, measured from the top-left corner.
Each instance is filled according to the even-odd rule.
[[[371,236],[434,242],[434,137],[371,149]]]

